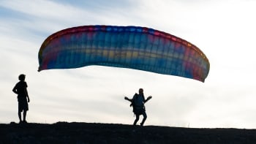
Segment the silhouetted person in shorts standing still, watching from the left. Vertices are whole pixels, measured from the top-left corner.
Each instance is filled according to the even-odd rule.
[[[18,78],[20,81],[16,83],[15,87],[12,89],[15,94],[18,94],[18,116],[20,123],[26,123],[26,111],[29,110],[28,102],[30,101],[29,94],[26,89],[28,86],[25,82],[25,77],[26,75],[19,75]],[[21,112],[23,112],[23,121],[21,120]]]

